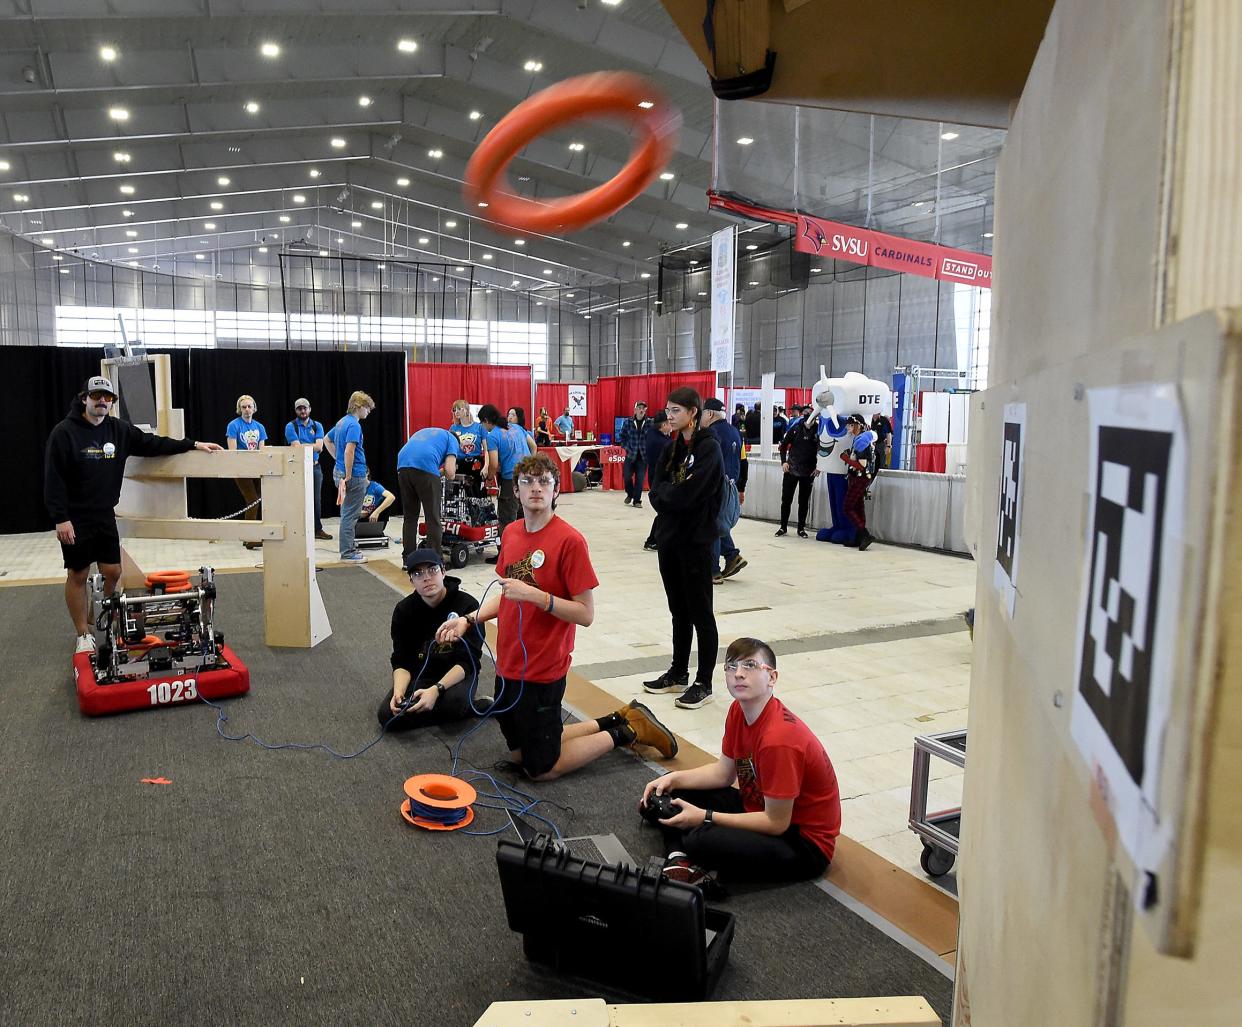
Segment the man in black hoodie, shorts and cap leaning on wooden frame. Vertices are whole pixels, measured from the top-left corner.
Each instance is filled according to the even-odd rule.
[[[56,523],[56,538],[65,556],[65,605],[77,632],[77,652],[94,651],[88,623],[86,580],[91,564],[99,565],[104,594],[120,577],[120,535],[117,500],[125,477],[125,459],[216,452],[214,442],[165,438],[111,417],[117,390],[102,375],[87,379],[73,400],[70,415],[47,437],[43,455],[43,502]]]

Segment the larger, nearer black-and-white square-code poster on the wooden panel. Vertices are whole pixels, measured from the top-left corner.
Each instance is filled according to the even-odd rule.
[[[1175,673],[1186,440],[1172,385],[1088,390],[1087,546],[1071,733],[1141,869],[1170,842],[1160,764]]]

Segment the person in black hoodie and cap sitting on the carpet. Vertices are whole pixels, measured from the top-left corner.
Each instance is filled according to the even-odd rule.
[[[436,642],[436,631],[445,621],[478,610],[478,600],[461,591],[458,579],[445,574],[440,553],[415,549],[405,558],[405,570],[414,595],[392,611],[392,694],[380,703],[378,713],[390,731],[472,715],[469,692],[482,652],[477,631],[466,632],[457,642]]]

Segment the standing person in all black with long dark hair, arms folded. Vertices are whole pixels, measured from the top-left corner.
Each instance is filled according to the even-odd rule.
[[[652,534],[660,556],[660,576],[673,616],[672,666],[655,681],[645,681],[647,692],[678,692],[676,705],[698,709],[712,700],[712,672],[719,635],[712,612],[712,546],[719,533],[717,515],[724,469],[720,443],[699,426],[703,400],[693,389],[668,394],[664,414],[673,430],[673,443],[656,468],[651,505],[656,510]],[[687,687],[691,642],[698,636],[698,673]]]

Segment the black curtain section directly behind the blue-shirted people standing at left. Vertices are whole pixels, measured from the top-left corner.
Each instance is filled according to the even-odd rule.
[[[349,395],[356,389],[375,400],[375,411],[363,422],[366,466],[373,481],[399,495],[396,453],[405,445],[405,354],[196,349],[190,351],[191,399],[179,405],[185,409],[185,433],[190,438],[224,446],[225,428],[237,416],[237,397],[251,395],[258,404],[255,417],[267,428],[268,445],[283,446],[296,399],[310,400],[310,416],[329,431],[345,415]],[[339,510],[327,453],[322,466],[323,515],[335,517]],[[189,483],[191,517],[224,517],[242,505],[241,493],[231,482]],[[390,509],[400,509],[400,497]]]

